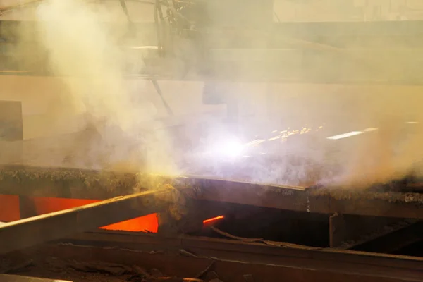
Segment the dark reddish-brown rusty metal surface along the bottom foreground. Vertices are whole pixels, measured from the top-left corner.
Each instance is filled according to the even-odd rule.
[[[192,261],[206,260],[208,262],[215,260],[223,265],[232,264],[235,267],[233,270],[239,268],[238,264],[249,265],[255,269],[261,268],[262,270],[276,267],[274,271],[276,273],[279,271],[279,274],[286,274],[286,278],[290,278],[289,281],[307,281],[304,278],[305,276],[307,278],[312,276],[318,278],[313,281],[324,281],[321,279],[331,277],[341,278],[341,276],[345,276],[347,279],[345,281],[355,281],[353,278],[364,278],[364,281],[423,281],[423,259],[417,257],[331,249],[309,250],[276,247],[259,243],[188,236],[162,238],[157,235],[119,232],[84,233],[75,235],[74,238],[63,242],[81,245],[81,247],[59,245],[59,250],[66,250],[63,252],[68,252],[68,255],[70,252],[72,256],[77,255],[77,253],[81,255],[77,250],[82,253],[87,252],[87,249],[89,249],[87,245],[96,245],[97,247],[93,248],[94,250],[90,250],[91,256],[95,254],[97,257],[102,256],[109,259],[114,257],[119,259],[119,262],[131,263],[132,259],[144,257],[149,260],[151,267],[154,267],[152,264],[155,260],[163,259],[163,257],[168,259],[169,256],[173,256],[173,263],[187,259]],[[52,250],[54,247],[49,248]],[[180,265],[181,269],[189,268],[186,262],[181,264],[185,264]],[[312,273],[307,274],[307,271]],[[297,276],[298,274],[302,275]],[[267,279],[262,278],[258,281],[280,281],[278,277],[280,276],[269,279],[269,276],[267,276]]]

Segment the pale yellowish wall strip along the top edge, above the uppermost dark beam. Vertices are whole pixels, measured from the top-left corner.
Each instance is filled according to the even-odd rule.
[[[20,4],[22,0],[0,0],[0,6]],[[125,22],[127,19],[118,1],[92,3],[105,20]],[[136,1],[127,3],[134,22],[154,21],[154,6]],[[5,13],[2,20],[36,20],[33,8]],[[322,22],[369,20],[422,20],[423,1],[420,0],[274,0],[274,21]]]

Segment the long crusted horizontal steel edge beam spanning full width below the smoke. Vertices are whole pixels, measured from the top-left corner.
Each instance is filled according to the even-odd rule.
[[[117,183],[117,184],[116,184]],[[128,195],[134,185],[170,184],[195,200],[248,204],[321,214],[357,214],[423,219],[422,193],[372,192],[263,185],[195,176],[138,176],[135,173],[67,168],[0,166],[0,194],[102,200]],[[188,189],[185,189],[188,188]]]

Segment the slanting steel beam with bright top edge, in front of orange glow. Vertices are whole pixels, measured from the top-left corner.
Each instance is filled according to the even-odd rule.
[[[0,254],[162,212],[173,200],[173,192],[173,188],[140,192],[6,223],[0,226]]]

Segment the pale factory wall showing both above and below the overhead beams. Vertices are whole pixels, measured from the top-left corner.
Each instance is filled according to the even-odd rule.
[[[18,0],[0,0],[0,6],[18,4]],[[106,20],[126,22],[127,19],[118,1],[102,1],[92,4],[97,7]],[[153,22],[153,6],[128,1],[130,17],[135,22]],[[363,20],[417,20],[423,19],[423,2],[419,0],[319,0],[319,1],[288,1],[275,0],[275,21],[363,21]],[[277,17],[276,17],[277,16]],[[5,13],[1,20],[36,20],[33,8],[23,8],[11,13]],[[82,112],[67,111],[63,104],[67,88],[58,78],[29,76],[0,76],[0,99],[18,100],[23,102],[24,139],[45,137],[61,133],[69,133],[85,128]],[[209,116],[224,116],[225,106],[207,106],[202,104],[202,82],[163,81],[159,85],[164,92],[166,102],[170,104],[176,117],[168,116],[159,95],[152,82],[140,78],[128,79],[128,89],[133,95],[141,95],[145,106],[153,106],[156,111],[152,119],[161,119],[164,124],[186,123],[200,121]],[[376,87],[377,88],[377,87]],[[247,123],[261,123],[266,119],[275,119],[281,112],[293,112],[300,104],[317,100],[324,103],[328,92],[335,94],[359,92],[372,93],[393,91],[402,92],[403,88],[388,90],[388,86],[355,87],[348,85],[240,85],[235,92],[242,95],[240,99],[240,115]],[[390,88],[391,89],[391,88]],[[416,92],[421,87],[407,87],[405,92]],[[326,96],[319,96],[319,95]],[[290,95],[301,97],[295,100],[298,106],[283,106],[294,103]],[[319,98],[317,98],[319,97]],[[329,98],[327,98],[329,99]],[[331,98],[332,99],[332,98]],[[66,100],[66,99],[65,99]],[[326,102],[325,102],[326,103]],[[61,105],[61,106],[58,106]],[[312,106],[302,110],[304,116],[312,116]],[[308,114],[307,114],[308,113]],[[298,113],[296,113],[298,114]],[[192,118],[195,116],[196,118]],[[298,116],[298,115],[297,115]],[[306,118],[306,119],[307,119]],[[276,118],[280,119],[280,118]],[[257,125],[258,126],[258,125]]]

